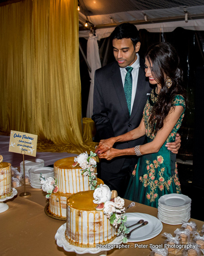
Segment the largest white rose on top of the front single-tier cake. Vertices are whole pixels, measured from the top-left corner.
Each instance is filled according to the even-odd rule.
[[[100,187],[96,188],[94,191],[94,204],[105,203],[106,201],[110,201],[111,199],[111,191],[107,185],[100,184]]]

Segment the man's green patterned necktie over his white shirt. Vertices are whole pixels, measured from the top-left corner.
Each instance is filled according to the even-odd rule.
[[[124,91],[126,94],[126,101],[128,104],[128,110],[129,114],[131,115],[131,98],[132,98],[132,85],[133,85],[133,77],[132,77],[132,67],[127,67],[127,74],[126,74],[126,79],[125,79],[125,84],[124,84]]]

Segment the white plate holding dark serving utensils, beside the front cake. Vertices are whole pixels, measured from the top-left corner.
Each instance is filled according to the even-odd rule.
[[[138,230],[134,231],[131,234],[131,237],[128,239],[128,242],[141,242],[152,239],[156,237],[163,229],[163,225],[159,219],[156,217],[146,214],[146,213],[139,213],[139,212],[130,212],[126,213],[128,219],[127,224],[133,225],[140,219],[144,219],[144,221],[148,221],[148,224],[144,227],[139,228]],[[130,230],[136,227],[131,228]]]

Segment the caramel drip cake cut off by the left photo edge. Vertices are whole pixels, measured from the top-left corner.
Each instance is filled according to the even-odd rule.
[[[11,184],[11,164],[0,163],[0,199],[10,197],[13,194]]]

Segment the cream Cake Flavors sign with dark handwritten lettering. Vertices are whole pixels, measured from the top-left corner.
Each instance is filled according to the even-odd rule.
[[[37,135],[11,131],[9,151],[36,156]]]

